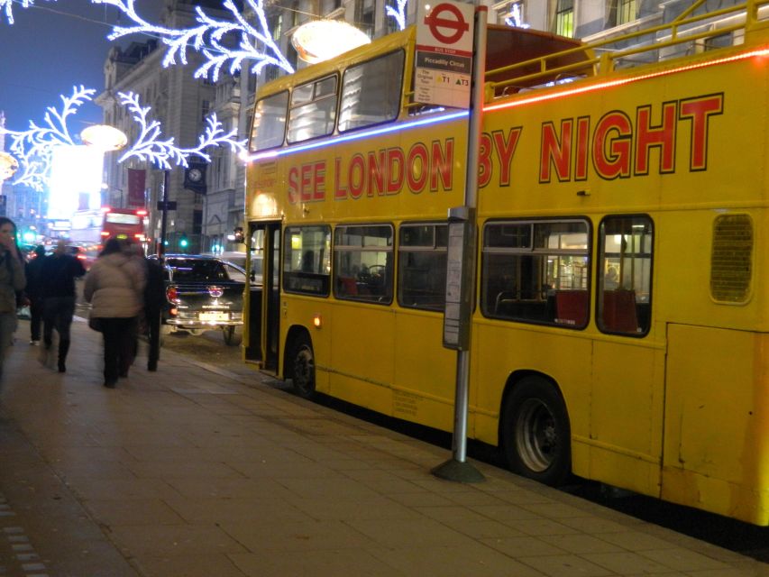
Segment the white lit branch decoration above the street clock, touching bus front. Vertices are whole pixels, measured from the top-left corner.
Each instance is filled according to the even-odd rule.
[[[160,122],[152,120],[148,122],[147,114],[150,113],[150,106],[142,106],[139,103],[139,96],[133,92],[119,92],[121,104],[128,108],[133,114],[133,120],[142,127],[142,133],[139,139],[133,143],[129,151],[118,159],[118,162],[124,162],[130,158],[139,160],[148,160],[162,169],[170,169],[171,161],[177,166],[188,167],[188,158],[197,156],[208,162],[211,157],[206,153],[206,148],[210,146],[228,145],[230,150],[237,154],[246,152],[246,141],[235,141],[233,137],[237,135],[237,130],[233,129],[229,133],[224,133],[222,123],[216,119],[216,114],[206,118],[206,133],[197,138],[197,147],[179,148],[174,144],[173,137],[162,140],[162,131]]]

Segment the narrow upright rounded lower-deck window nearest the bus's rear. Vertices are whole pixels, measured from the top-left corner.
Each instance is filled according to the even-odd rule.
[[[649,331],[652,230],[648,216],[607,216],[600,224],[596,322],[604,333]]]

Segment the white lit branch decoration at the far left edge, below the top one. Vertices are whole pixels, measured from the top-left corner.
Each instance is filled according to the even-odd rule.
[[[19,132],[0,127],[0,133],[11,137],[9,150],[21,165],[14,184],[23,184],[38,191],[45,187],[50,177],[52,150],[57,146],[76,144],[69,134],[67,118],[76,114],[78,108],[95,94],[96,90],[91,88],[73,87],[72,96],[60,96],[63,103],[61,112],[53,106],[48,107],[44,116],[47,126],[38,126],[30,121],[29,130]]]

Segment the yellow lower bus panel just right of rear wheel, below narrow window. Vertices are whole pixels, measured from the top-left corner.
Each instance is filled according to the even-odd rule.
[[[664,349],[596,339],[590,398],[590,479],[659,496]]]

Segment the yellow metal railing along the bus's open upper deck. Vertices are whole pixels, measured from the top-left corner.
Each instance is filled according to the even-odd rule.
[[[746,0],[744,3],[728,6],[726,8],[720,8],[719,10],[710,11],[704,14],[691,15],[697,8],[704,4],[705,0],[697,0],[670,23],[660,24],[658,26],[637,30],[635,32],[628,32],[626,34],[614,36],[601,41],[590,42],[572,49],[554,52],[543,57],[516,62],[508,66],[499,67],[497,69],[487,70],[486,100],[488,102],[495,96],[507,95],[509,88],[513,88],[515,91],[515,89],[518,87],[531,86],[532,82],[536,81],[537,78],[542,78],[543,83],[545,83],[545,80],[549,80],[550,78],[566,76],[575,71],[584,70],[586,67],[590,66],[593,68],[594,76],[605,75],[614,71],[615,63],[618,60],[626,59],[628,56],[652,52],[654,50],[662,50],[686,42],[713,38],[728,32],[735,32],[738,30],[744,30],[746,33],[748,33],[767,24],[765,19],[760,18],[759,9],[761,6],[769,5],[769,0]],[[735,14],[739,17],[742,16],[743,13],[744,17],[741,18],[741,22],[735,24],[714,27],[713,29],[705,32],[691,33],[685,30],[687,27],[691,27],[696,23],[701,23],[706,20],[713,20],[716,18],[728,16],[729,14]],[[657,41],[656,35],[660,32],[669,32],[669,34],[663,40]],[[613,51],[607,50],[602,52],[600,56],[591,56],[586,60],[572,62],[570,64],[561,66],[553,65],[553,63],[560,63],[563,62],[563,60],[568,60],[568,57],[572,55],[577,55],[579,53],[594,54],[596,50],[602,49],[611,44],[633,41],[636,38],[641,38],[650,34],[655,34],[655,39],[641,46]],[[499,76],[500,74],[508,75],[510,72],[515,73],[516,70],[527,70],[531,69],[532,67],[536,67],[538,71],[526,72],[520,76],[505,78],[499,82],[490,81],[490,78]]]

